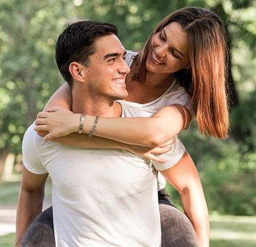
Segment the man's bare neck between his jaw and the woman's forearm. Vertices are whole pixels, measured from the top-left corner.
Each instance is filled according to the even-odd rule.
[[[100,117],[121,117],[122,107],[119,103],[101,97],[90,97],[72,92],[72,112]]]

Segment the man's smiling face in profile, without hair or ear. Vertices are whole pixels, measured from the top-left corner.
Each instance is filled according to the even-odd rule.
[[[96,52],[85,67],[85,82],[91,95],[113,100],[127,98],[125,79],[130,68],[124,61],[125,54],[116,35],[96,41]]]

